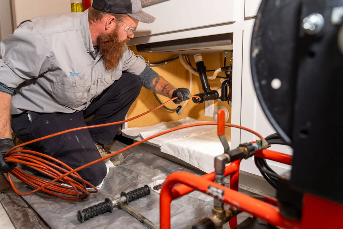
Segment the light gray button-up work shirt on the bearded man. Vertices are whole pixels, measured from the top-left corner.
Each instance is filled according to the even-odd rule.
[[[94,52],[88,10],[25,21],[0,49],[0,83],[15,88],[12,115],[82,111],[122,71],[139,76],[147,67],[126,46],[117,68],[106,70],[102,54]]]

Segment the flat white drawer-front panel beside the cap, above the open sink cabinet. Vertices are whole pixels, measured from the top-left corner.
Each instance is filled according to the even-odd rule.
[[[135,37],[233,22],[234,0],[172,0],[143,10],[156,17],[152,24],[140,23]]]

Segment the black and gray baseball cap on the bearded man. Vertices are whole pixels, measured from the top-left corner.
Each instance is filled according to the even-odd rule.
[[[127,14],[143,23],[153,23],[156,19],[142,10],[141,0],[94,0],[92,7],[106,13]]]

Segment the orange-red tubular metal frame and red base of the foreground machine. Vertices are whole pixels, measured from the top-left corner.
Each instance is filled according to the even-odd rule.
[[[255,156],[289,165],[292,161],[292,156],[290,155],[267,149],[258,150]],[[306,194],[304,198],[303,218],[301,221],[292,221],[281,216],[279,208],[274,206],[278,204],[276,199],[266,197],[264,201],[260,201],[239,193],[238,178],[240,161],[234,161],[225,168],[224,175],[231,176],[230,188],[212,182],[214,181],[214,172],[201,177],[186,172],[170,174],[161,189],[161,229],[170,228],[170,203],[173,199],[186,195],[194,190],[206,194],[209,186],[224,191],[223,202],[277,227],[289,229],[343,228],[343,206],[325,199]],[[181,185],[174,187],[176,184]],[[237,226],[237,218],[232,218],[229,224],[230,228],[235,228]]]

